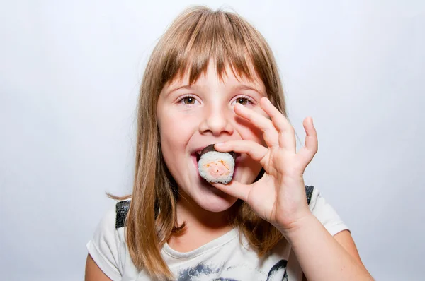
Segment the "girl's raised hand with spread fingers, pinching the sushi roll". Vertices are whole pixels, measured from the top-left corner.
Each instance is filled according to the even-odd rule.
[[[317,153],[317,133],[312,119],[306,118],[302,123],[307,133],[305,146],[296,153],[295,131],[288,119],[266,97],[261,98],[260,106],[271,120],[241,104],[234,105],[234,112],[261,129],[268,148],[251,140],[229,140],[215,144],[215,149],[247,153],[263,166],[263,177],[253,184],[233,180],[227,185],[213,185],[246,201],[260,217],[285,234],[311,215],[302,175]]]

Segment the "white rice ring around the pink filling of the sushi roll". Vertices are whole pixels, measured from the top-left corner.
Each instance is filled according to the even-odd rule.
[[[223,174],[220,177],[212,177],[208,172],[208,167],[206,165],[211,162],[219,162],[220,160],[224,161],[229,167],[229,174]],[[219,153],[217,151],[209,151],[201,155],[198,162],[198,171],[200,177],[203,177],[208,182],[228,184],[232,181],[233,172],[234,172],[234,158],[229,153]]]

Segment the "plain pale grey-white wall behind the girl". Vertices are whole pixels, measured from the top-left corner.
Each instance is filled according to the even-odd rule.
[[[234,8],[271,44],[305,173],[377,280],[423,280],[424,1],[3,1],[0,279],[83,280],[86,242],[132,188],[135,106],[189,4]]]

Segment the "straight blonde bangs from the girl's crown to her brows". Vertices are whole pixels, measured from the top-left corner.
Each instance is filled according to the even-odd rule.
[[[255,74],[267,71],[267,59],[260,36],[254,28],[233,13],[189,10],[183,13],[164,36],[162,50],[162,85],[186,74],[193,84],[214,62],[222,80],[226,68],[234,76],[254,80]],[[254,69],[255,73],[252,73]]]

